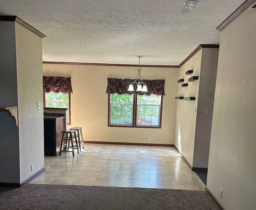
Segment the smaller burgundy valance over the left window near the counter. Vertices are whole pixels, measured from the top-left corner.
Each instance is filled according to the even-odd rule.
[[[71,77],[43,76],[43,90],[46,93],[72,93]]]

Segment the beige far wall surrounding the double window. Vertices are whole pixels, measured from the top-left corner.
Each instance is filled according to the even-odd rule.
[[[142,78],[166,80],[161,129],[108,127],[107,78],[134,78],[136,67],[43,64],[43,74],[71,76],[71,127],[83,127],[85,140],[174,143],[178,68],[142,68]]]

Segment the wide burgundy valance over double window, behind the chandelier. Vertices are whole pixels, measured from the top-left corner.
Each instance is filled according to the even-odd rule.
[[[130,83],[132,83],[135,79],[118,79],[118,78],[108,78],[108,85],[106,93],[118,93],[124,94],[127,93],[132,95],[137,93],[138,95],[164,95],[164,79],[154,79],[154,80],[147,80],[143,79],[144,83],[147,83],[148,92],[142,91],[128,91]],[[136,84],[134,85],[134,90],[136,90]]]

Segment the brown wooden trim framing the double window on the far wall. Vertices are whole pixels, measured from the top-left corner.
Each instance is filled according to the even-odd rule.
[[[161,103],[160,103],[160,119],[158,126],[145,126],[145,125],[137,125],[137,100],[138,95],[135,93],[133,98],[133,115],[132,115],[132,125],[113,125],[110,123],[110,93],[108,93],[108,127],[123,127],[123,128],[162,128],[162,111],[163,111],[163,95],[161,96]]]

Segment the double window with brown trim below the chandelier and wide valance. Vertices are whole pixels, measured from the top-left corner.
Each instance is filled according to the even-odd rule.
[[[161,128],[162,95],[114,93],[108,100],[109,127]]]

